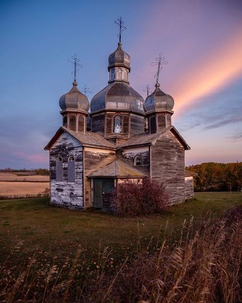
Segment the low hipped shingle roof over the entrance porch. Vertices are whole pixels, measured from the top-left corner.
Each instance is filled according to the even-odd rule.
[[[92,172],[87,177],[145,178],[146,176],[143,175],[142,172],[138,171],[136,168],[128,165],[127,163],[121,160],[116,160]]]

